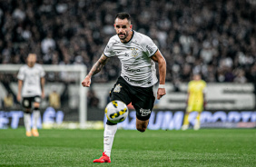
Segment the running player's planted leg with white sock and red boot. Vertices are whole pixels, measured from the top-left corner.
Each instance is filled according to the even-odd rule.
[[[110,92],[110,99],[119,100],[123,103],[131,103],[130,97],[127,95],[126,83],[123,83],[122,78],[119,78],[117,83],[114,84],[112,91]],[[99,159],[95,159],[94,162],[111,162],[110,156],[113,146],[113,138],[117,131],[117,123],[111,123],[107,121],[104,128],[103,139],[103,156]]]

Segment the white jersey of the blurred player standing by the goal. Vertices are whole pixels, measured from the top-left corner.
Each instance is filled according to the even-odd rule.
[[[44,77],[44,68],[41,64],[34,64],[30,68],[27,64],[23,65],[18,73],[17,78],[23,81],[22,96],[32,97],[41,95],[41,78]]]

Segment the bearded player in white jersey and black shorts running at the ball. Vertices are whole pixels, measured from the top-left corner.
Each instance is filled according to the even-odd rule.
[[[158,82],[154,62],[159,64],[160,75],[157,99],[165,94],[166,63],[153,40],[135,32],[132,27],[129,14],[116,15],[116,34],[110,38],[102,56],[86,75],[82,85],[89,87],[91,77],[99,73],[111,57],[117,56],[121,61],[122,71],[110,93],[111,101],[120,100],[127,105],[132,102],[136,110],[136,128],[143,133],[147,129],[155,100],[153,85]],[[110,155],[116,130],[117,124],[107,121],[103,133],[103,156],[94,162],[111,162]]]

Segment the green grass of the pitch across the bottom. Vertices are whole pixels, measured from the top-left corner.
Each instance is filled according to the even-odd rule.
[[[0,166],[256,166],[255,129],[118,130],[111,163],[102,155],[102,130],[0,130]]]

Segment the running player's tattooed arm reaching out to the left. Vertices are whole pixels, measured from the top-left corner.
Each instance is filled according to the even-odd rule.
[[[94,74],[99,73],[103,69],[103,66],[107,63],[108,60],[109,58],[104,54],[102,54],[102,56],[99,58],[99,60],[94,64],[94,66],[90,70],[89,74],[85,76],[84,81],[82,82],[82,85],[84,87],[90,87],[92,76]]]

